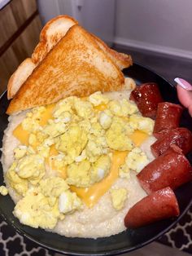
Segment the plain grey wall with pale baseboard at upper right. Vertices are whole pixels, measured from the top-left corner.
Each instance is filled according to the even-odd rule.
[[[192,59],[192,0],[116,0],[115,42]]]

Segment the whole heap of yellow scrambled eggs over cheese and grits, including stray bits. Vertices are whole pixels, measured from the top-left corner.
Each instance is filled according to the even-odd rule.
[[[135,86],[130,78],[126,82]],[[128,99],[109,99],[98,91],[86,99],[68,97],[49,107],[33,108],[21,126],[28,141],[15,148],[6,175],[11,188],[23,196],[14,214],[31,227],[52,229],[65,214],[83,208],[71,186],[89,188],[107,177],[114,151],[129,151],[119,170],[121,178],[146,166],[146,155],[129,136],[134,130],[151,135],[154,121],[140,116]],[[0,193],[6,194],[6,188],[1,186]],[[116,210],[124,207],[126,198],[126,189],[111,189]]]

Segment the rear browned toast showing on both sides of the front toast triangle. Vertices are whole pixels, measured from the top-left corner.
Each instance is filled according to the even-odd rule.
[[[68,29],[74,24],[78,24],[78,22],[72,17],[59,15],[45,25],[41,30],[40,42],[33,51],[32,58],[26,59],[27,61],[24,60],[19,68],[15,70],[15,73],[12,74],[7,86],[8,99],[12,99],[15,96],[17,90],[19,90],[24,81],[27,80],[29,74],[33,72],[33,69],[46,57],[47,53],[64,37]],[[130,55],[113,51],[102,40],[93,34],[91,36],[120,69],[128,68],[132,64]]]

